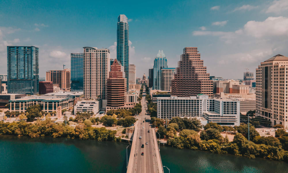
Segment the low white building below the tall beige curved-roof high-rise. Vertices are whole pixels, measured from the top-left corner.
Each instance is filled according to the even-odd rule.
[[[77,104],[74,106],[74,114],[77,112],[94,112],[97,114],[101,109],[101,105],[99,105],[98,100],[82,100],[78,101]]]

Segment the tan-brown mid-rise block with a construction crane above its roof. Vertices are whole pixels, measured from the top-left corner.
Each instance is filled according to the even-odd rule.
[[[46,72],[46,81],[53,82],[53,86],[57,86],[63,91],[71,91],[70,79],[70,69],[50,70]]]

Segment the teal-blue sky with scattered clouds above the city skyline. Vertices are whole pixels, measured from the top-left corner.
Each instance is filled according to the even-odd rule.
[[[7,46],[39,48],[39,77],[70,68],[70,53],[109,48],[116,58],[117,18],[129,21],[130,64],[148,76],[158,50],[177,67],[184,47],[198,47],[210,76],[241,79],[246,68],[288,56],[288,0],[0,1],[0,74]]]

